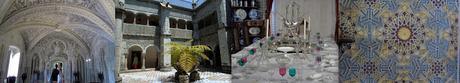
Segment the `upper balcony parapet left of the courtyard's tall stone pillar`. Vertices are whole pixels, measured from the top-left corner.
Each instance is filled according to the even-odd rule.
[[[156,26],[123,23],[123,35],[155,36]]]

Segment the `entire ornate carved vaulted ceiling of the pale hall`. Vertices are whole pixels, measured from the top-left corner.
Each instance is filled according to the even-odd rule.
[[[114,39],[113,0],[1,0],[0,5],[0,39],[20,35],[27,50],[49,39],[85,49]]]

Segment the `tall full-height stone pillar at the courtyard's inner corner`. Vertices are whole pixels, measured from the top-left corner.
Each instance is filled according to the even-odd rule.
[[[163,55],[160,56],[160,70],[161,71],[171,71],[171,54],[169,51],[169,42],[171,42],[171,32],[169,24],[169,13],[168,8],[161,6],[160,7],[160,27],[161,27],[161,49]]]

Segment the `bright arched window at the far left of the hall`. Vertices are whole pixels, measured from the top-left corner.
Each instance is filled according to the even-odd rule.
[[[19,59],[21,57],[21,52],[19,48],[15,46],[10,46],[8,49],[9,52],[9,63],[8,63],[8,76],[7,77],[17,77],[19,70]]]

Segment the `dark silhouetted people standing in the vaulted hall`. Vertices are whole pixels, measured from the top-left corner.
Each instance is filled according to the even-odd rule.
[[[64,75],[62,73],[62,63],[55,65],[53,72],[51,72],[52,83],[64,83]]]

